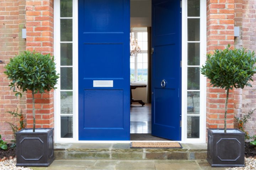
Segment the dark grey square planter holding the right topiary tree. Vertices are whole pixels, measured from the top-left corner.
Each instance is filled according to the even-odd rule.
[[[244,165],[245,133],[239,129],[208,129],[207,161],[212,167]]]

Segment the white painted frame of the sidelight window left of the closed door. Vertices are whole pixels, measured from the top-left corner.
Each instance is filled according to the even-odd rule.
[[[60,42],[60,19],[73,19],[73,41]],[[54,56],[57,73],[60,73],[61,67],[73,68],[73,90],[60,90],[60,84],[54,91],[54,140],[55,142],[74,142],[78,141],[78,1],[73,0],[73,16],[60,17],[60,0],[54,0]],[[73,43],[73,65],[60,66],[60,43]],[[60,83],[60,79],[58,81]],[[73,138],[60,137],[60,92],[73,91]],[[70,114],[62,114],[70,115]]]

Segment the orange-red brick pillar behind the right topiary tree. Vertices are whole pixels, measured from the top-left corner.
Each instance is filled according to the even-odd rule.
[[[234,45],[234,0],[207,0],[207,53]],[[225,90],[207,80],[207,128],[224,128]],[[227,128],[234,127],[234,95],[230,91]]]

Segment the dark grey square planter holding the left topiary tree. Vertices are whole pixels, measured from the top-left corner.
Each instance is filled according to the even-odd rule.
[[[16,132],[16,166],[49,166],[54,160],[53,128]]]

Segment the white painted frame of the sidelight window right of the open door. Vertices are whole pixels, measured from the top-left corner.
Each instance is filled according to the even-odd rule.
[[[187,40],[187,19],[200,18],[200,41]],[[200,17],[187,17],[187,0],[182,1],[182,142],[186,143],[206,143],[206,78],[200,74],[200,90],[187,90],[187,68],[200,67],[187,65],[187,43],[200,43],[200,66],[204,64],[206,58],[206,0],[200,1]],[[187,92],[200,92],[200,114],[187,114]],[[200,137],[187,138],[187,116],[200,116]]]

